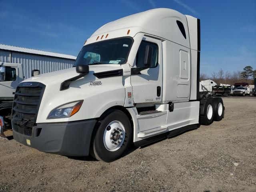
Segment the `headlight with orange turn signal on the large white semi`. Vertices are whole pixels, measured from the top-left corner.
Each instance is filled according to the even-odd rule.
[[[71,117],[79,111],[82,104],[83,101],[76,101],[59,106],[50,112],[47,119]]]

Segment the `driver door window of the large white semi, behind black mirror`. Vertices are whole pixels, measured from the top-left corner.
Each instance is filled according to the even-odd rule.
[[[154,68],[158,64],[158,46],[157,44],[148,42],[148,41],[142,41],[140,43],[137,55],[136,55],[136,66],[137,67],[144,67],[144,57],[145,57],[145,50],[146,46],[151,46],[153,48],[152,53],[152,62],[150,68]]]

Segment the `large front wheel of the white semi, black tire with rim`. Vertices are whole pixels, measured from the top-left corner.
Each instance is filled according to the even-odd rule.
[[[90,154],[97,160],[112,162],[120,158],[131,142],[131,124],[120,110],[110,110],[97,123],[90,145]]]

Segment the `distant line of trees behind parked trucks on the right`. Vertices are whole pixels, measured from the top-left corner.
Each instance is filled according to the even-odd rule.
[[[218,72],[212,72],[211,76],[200,73],[200,81],[211,79],[217,84],[234,85],[237,82],[245,82],[252,85],[254,78],[256,78],[256,70],[253,70],[252,66],[246,66],[243,71],[227,71],[226,73],[221,68]]]

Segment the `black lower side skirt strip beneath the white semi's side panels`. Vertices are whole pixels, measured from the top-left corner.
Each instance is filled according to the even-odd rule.
[[[178,129],[171,130],[166,133],[162,133],[162,134],[159,134],[156,136],[152,136],[150,138],[146,138],[146,139],[134,142],[134,146],[139,147],[139,146],[148,145],[148,144],[156,142],[158,140],[174,137],[174,136],[181,134],[183,132],[186,132],[188,130],[197,129],[198,127],[199,127],[199,124],[187,125],[187,126],[184,126],[184,127],[178,128]]]

